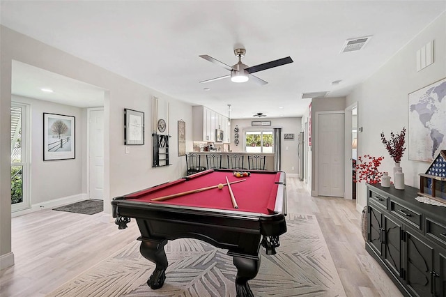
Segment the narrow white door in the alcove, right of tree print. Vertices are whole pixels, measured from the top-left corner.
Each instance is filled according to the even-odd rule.
[[[89,194],[103,200],[104,109],[89,109]]]

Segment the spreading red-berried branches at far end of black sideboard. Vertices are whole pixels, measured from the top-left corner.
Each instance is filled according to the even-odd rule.
[[[383,156],[376,158],[371,155],[357,157],[359,163],[355,166],[356,176],[353,181],[355,183],[361,181],[371,184],[380,183],[383,172],[379,172],[378,167],[383,159]]]

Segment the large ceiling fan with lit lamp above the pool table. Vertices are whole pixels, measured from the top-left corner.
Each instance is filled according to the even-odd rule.
[[[265,82],[263,79],[260,79],[259,77],[256,77],[255,75],[252,75],[252,73],[256,73],[256,72],[259,72],[262,70],[274,68],[277,66],[282,66],[282,65],[285,65],[288,63],[293,63],[293,60],[291,59],[291,57],[287,56],[286,58],[282,58],[282,59],[278,59],[275,61],[270,61],[267,63],[248,67],[247,65],[242,63],[242,57],[245,56],[245,54],[246,54],[245,49],[242,49],[242,48],[236,49],[236,50],[234,50],[234,54],[236,54],[236,56],[238,57],[238,63],[236,63],[234,66],[226,65],[225,63],[220,62],[217,59],[214,59],[212,56],[208,56],[207,54],[202,54],[201,58],[222,66],[226,70],[231,71],[231,74],[224,75],[221,77],[206,79],[206,80],[201,81],[201,83],[203,84],[206,82],[214,82],[215,80],[218,80],[218,79],[224,79],[226,77],[231,77],[232,82],[247,82],[248,79],[252,79],[252,80],[254,80],[254,82],[256,82],[257,84],[260,84],[260,85],[268,84],[268,82]]]

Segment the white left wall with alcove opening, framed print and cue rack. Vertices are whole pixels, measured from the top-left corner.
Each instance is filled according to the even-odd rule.
[[[12,60],[27,63],[59,75],[99,86],[105,93],[105,213],[111,206],[107,199],[151,185],[174,180],[185,172],[184,157],[178,157],[177,121],[186,122],[186,151],[192,151],[192,106],[176,98],[111,73],[75,56],[40,43],[0,26],[0,261],[1,268],[11,264],[10,224],[10,101]],[[171,104],[171,164],[152,168],[152,98],[169,100]],[[125,153],[123,144],[123,109],[145,113],[145,145],[131,146]],[[85,118],[86,112],[79,113]],[[86,127],[85,123],[83,123]],[[82,128],[82,130],[86,128]],[[79,142],[80,144],[80,142]],[[83,156],[79,155],[79,158]],[[51,166],[51,165],[49,165]],[[84,178],[84,177],[83,177]],[[82,185],[82,191],[84,191]]]

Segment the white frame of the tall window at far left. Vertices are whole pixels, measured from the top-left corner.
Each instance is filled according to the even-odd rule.
[[[23,211],[24,209],[31,208],[31,130],[30,130],[30,110],[31,107],[28,104],[21,102],[11,102],[11,106],[17,106],[22,108],[22,162],[13,163],[11,162],[11,167],[22,166],[22,202],[12,204],[11,211],[14,213],[16,211]]]

